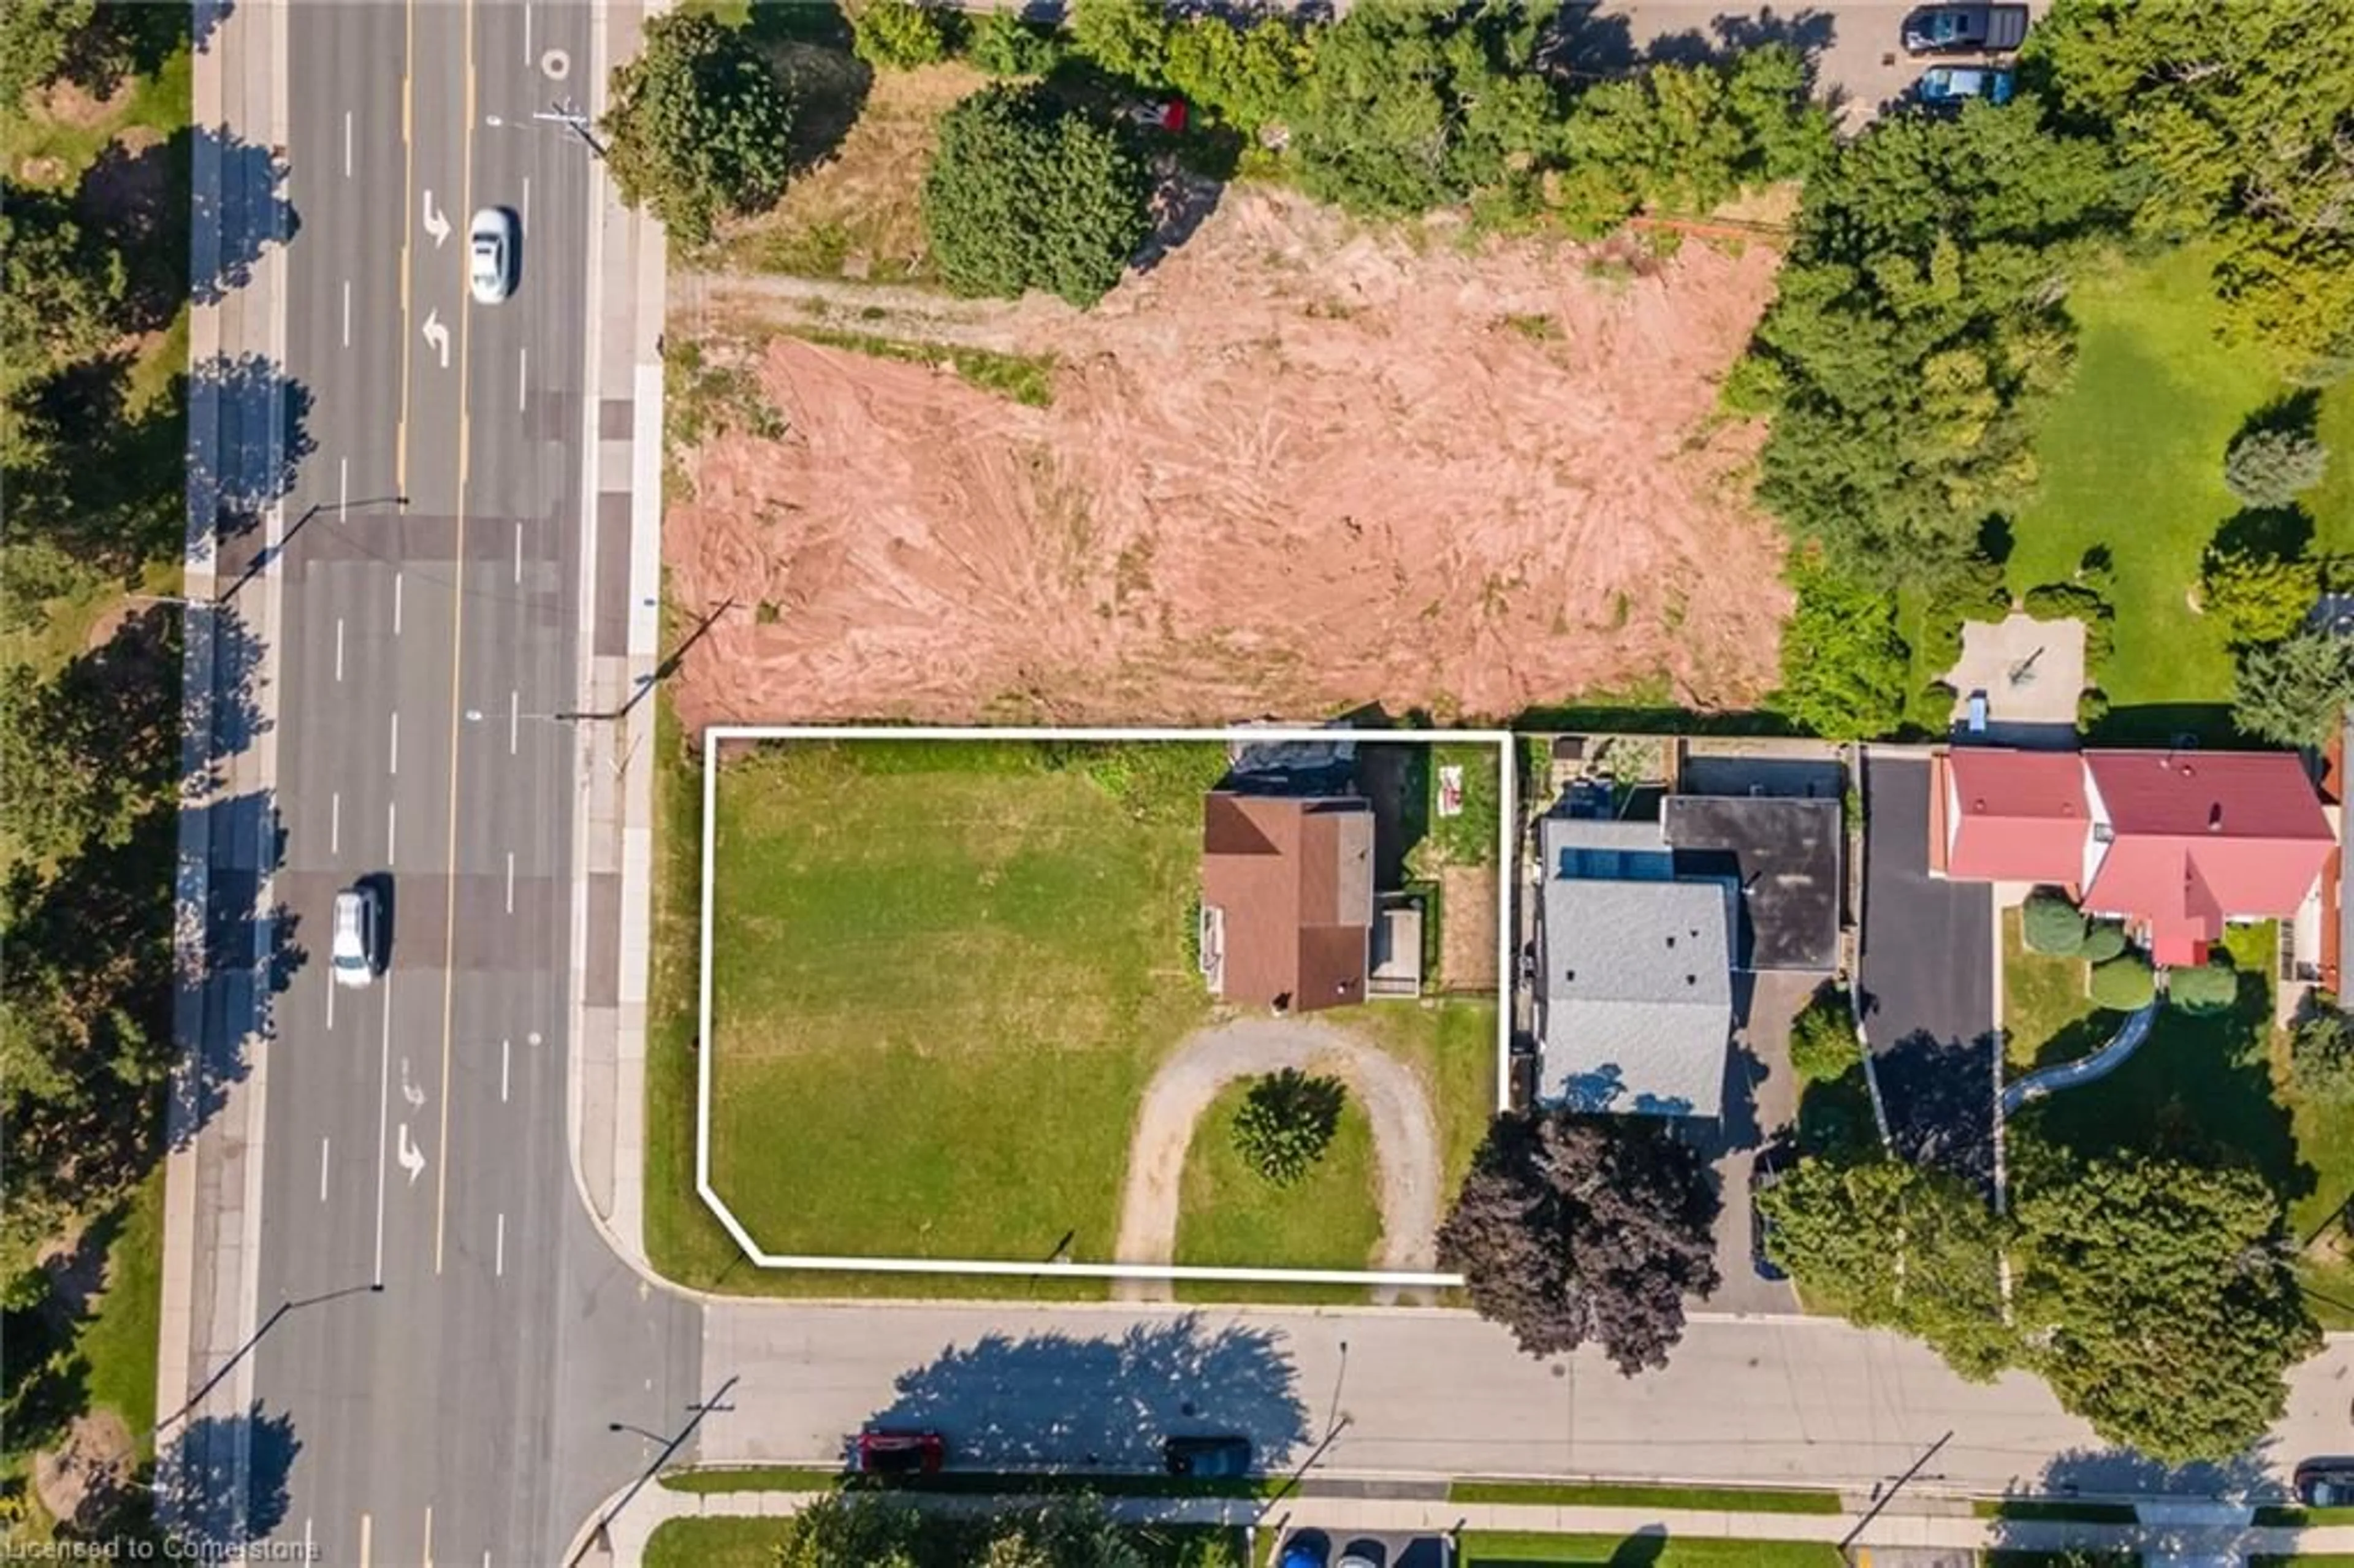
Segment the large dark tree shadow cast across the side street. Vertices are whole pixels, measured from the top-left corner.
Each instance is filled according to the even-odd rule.
[[[1238,1431],[1274,1469],[1309,1439],[1297,1382],[1278,1335],[1186,1314],[1095,1340],[986,1335],[902,1373],[873,1424],[937,1429],[979,1469],[1149,1471],[1172,1431]]]

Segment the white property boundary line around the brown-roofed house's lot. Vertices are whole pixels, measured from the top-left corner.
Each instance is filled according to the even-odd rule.
[[[1497,749],[1497,878],[1495,878],[1495,1109],[1511,1104],[1511,902],[1521,888],[1518,803],[1514,798],[1511,730],[1344,730],[1311,725],[1233,725],[1224,730],[1121,730],[1045,725],[711,725],[704,730],[704,888],[701,954],[694,1012],[694,1191],[734,1243],[760,1269],[822,1269],[833,1274],[993,1274],[1015,1278],[1144,1278],[1144,1281],[1229,1281],[1259,1285],[1462,1285],[1462,1274],[1419,1269],[1219,1269],[1208,1264],[1118,1264],[1118,1262],[1000,1262],[991,1257],[826,1257],[767,1253],[734,1210],[711,1187],[711,885],[716,873],[713,838],[718,824],[720,746],[727,742],[1389,742],[1389,744],[1485,744]],[[1441,913],[1441,918],[1445,918]]]

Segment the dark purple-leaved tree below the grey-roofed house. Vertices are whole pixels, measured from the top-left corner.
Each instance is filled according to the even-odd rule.
[[[1502,1116],[1438,1227],[1438,1262],[1530,1356],[1594,1342],[1629,1377],[1667,1366],[1683,1302],[1718,1285],[1716,1191],[1648,1116]]]

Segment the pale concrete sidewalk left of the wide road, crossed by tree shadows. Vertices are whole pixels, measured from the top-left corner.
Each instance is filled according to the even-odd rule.
[[[264,428],[205,367],[224,356],[285,365],[285,233],[261,170],[224,167],[224,146],[282,148],[287,7],[226,12],[191,71],[188,511],[181,556],[184,713],[174,866],[172,1038],[165,1109],[162,1300],[155,1358],[158,1507],[193,1537],[242,1540],[252,1446],[252,1335],[259,1288],[261,1137],[278,864],[278,546],[285,537],[285,414]],[[252,160],[242,160],[250,165]],[[268,160],[266,179],[282,179]],[[231,261],[250,266],[228,285]],[[235,527],[224,523],[235,520]],[[231,539],[228,534],[238,534]],[[221,591],[233,593],[221,603]],[[235,617],[242,629],[224,629]],[[226,636],[224,636],[226,631]],[[250,669],[224,647],[257,650]],[[231,744],[221,685],[252,706]],[[202,1516],[174,1474],[202,1488]]]

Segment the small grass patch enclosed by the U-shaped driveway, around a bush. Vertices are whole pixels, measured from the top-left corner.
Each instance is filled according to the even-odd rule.
[[[1325,1156],[1292,1187],[1276,1187],[1233,1149],[1233,1114],[1248,1083],[1231,1083],[1193,1123],[1177,1210],[1177,1262],[1370,1269],[1382,1245],[1372,1123],[1351,1095]]]

